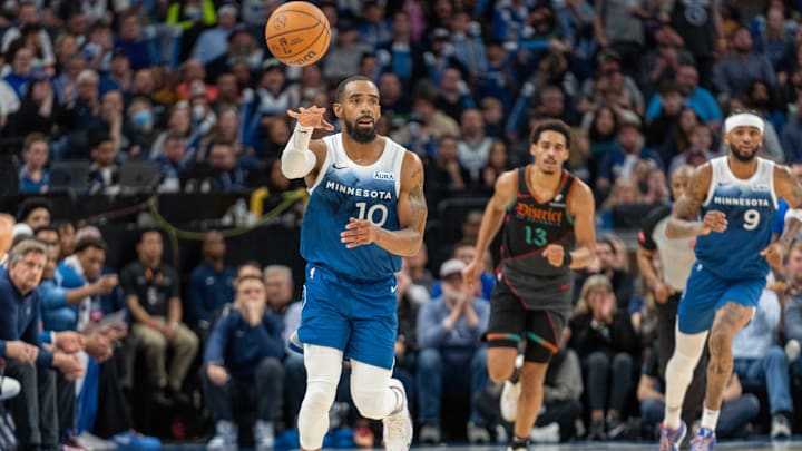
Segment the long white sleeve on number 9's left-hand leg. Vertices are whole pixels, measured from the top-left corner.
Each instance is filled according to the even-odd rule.
[[[668,361],[665,372],[666,408],[664,424],[666,428],[679,428],[679,414],[683,401],[685,400],[685,392],[688,385],[691,385],[693,372],[702,355],[702,351],[704,351],[706,339],[707,332],[688,335],[679,332],[677,326],[674,339],[674,354]]]

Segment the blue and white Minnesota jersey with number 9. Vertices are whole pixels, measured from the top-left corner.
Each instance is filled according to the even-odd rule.
[[[702,217],[708,210],[726,215],[727,228],[696,239],[696,258],[725,280],[765,277],[769,264],[760,255],[772,237],[777,199],[774,163],[757,158],[757,170],[747,180],[733,176],[726,157],[711,160],[713,178]]]

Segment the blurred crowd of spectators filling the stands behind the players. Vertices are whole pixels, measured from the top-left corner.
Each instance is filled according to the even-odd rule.
[[[506,442],[478,340],[498,255],[475,294],[459,272],[497,176],[527,164],[530,129],[557,118],[574,128],[567,168],[594,188],[599,242],[576,274],[531,439],[651,440],[659,301],[638,272],[637,232],[682,188],[676,171],[726,153],[735,109],[765,119],[761,156],[802,180],[801,4],[323,0],[331,48],[290,68],[263,38],[281,3],[0,2],[0,207],[21,246],[0,294],[38,296],[40,310],[0,333],[42,350],[31,372],[16,362],[27,349],[6,346],[22,386],[4,402],[0,448],[297,445],[305,378],[285,341],[300,321],[304,192],[278,166],[285,111],[330,107],[355,73],[379,87],[379,134],[426,166],[427,246],[398,275],[395,373],[417,439]],[[40,254],[41,282],[23,288],[19,265]],[[791,434],[779,416],[802,424],[802,246],[784,269],[736,340],[720,437]],[[473,314],[478,329],[460,320]],[[438,329],[449,315],[458,333]],[[31,321],[41,333],[18,332]],[[326,447],[379,444],[348,376],[339,392]],[[55,408],[23,415],[20,400]]]

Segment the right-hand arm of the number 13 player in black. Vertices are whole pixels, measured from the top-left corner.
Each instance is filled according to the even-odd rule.
[[[594,215],[596,203],[590,188],[584,182],[576,179],[571,189],[570,208],[574,216],[574,236],[577,247],[570,252],[570,268],[581,269],[596,258],[596,227]]]

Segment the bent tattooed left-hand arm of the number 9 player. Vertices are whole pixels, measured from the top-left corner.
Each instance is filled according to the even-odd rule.
[[[708,212],[703,220],[698,219],[712,178],[713,166],[710,163],[705,163],[694,170],[687,189],[674,203],[674,209],[666,223],[666,237],[687,238],[707,235],[711,231],[723,232],[726,229],[726,217],[722,212]]]

